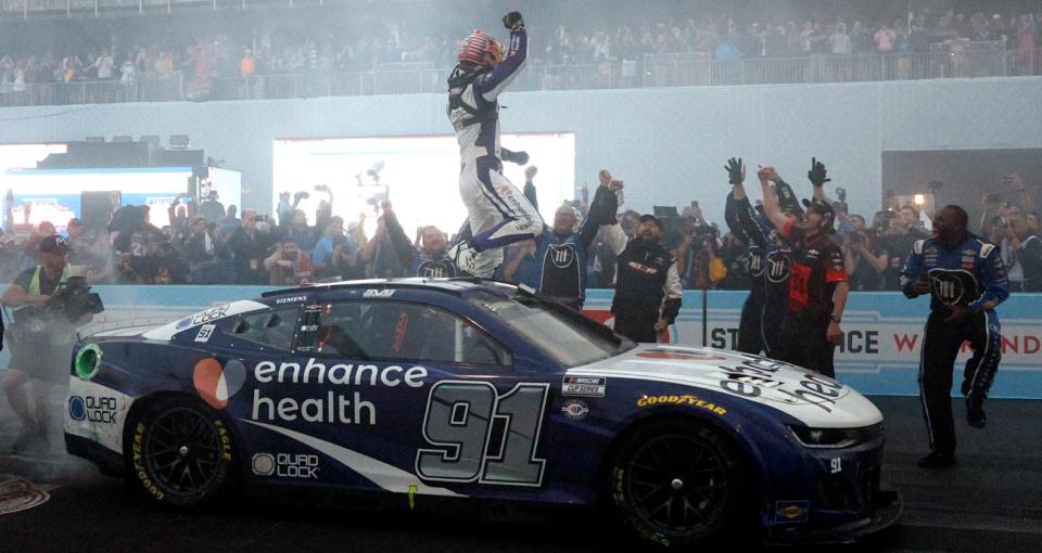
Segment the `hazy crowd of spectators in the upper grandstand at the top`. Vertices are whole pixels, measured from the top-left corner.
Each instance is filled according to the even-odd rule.
[[[1021,54],[1022,73],[1039,73],[1038,13],[897,12],[869,21],[854,15],[758,18],[727,15],[689,17],[669,22],[598,22],[582,26],[566,22],[542,36],[533,36],[536,63],[587,64],[637,61],[650,53],[701,52],[715,60],[929,52],[943,44],[960,52],[971,42],[988,42]],[[7,41],[0,52],[0,92],[24,90],[31,82],[81,80],[132,81],[141,75],[163,77],[182,72],[198,87],[219,77],[263,74],[368,70],[386,63],[453,65],[460,29],[382,25],[359,30],[351,26],[301,30],[270,23],[237,26],[206,34],[167,33],[156,37],[111,34],[75,37],[79,46],[65,51],[49,44],[31,51],[33,42]],[[67,37],[66,37],[67,38]],[[86,43],[82,41],[87,40]],[[0,43],[0,47],[4,43]],[[60,47],[59,47],[60,48]]]

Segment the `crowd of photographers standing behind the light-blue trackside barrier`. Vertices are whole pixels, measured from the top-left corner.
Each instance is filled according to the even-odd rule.
[[[1019,202],[983,200],[979,234],[1001,245],[1014,290],[1042,284],[1042,241],[1034,198],[1019,177],[1011,180]],[[334,215],[328,202],[315,214],[296,208],[297,198],[284,194],[275,216],[253,209],[240,214],[212,196],[196,203],[185,196],[171,204],[171,224],[156,228],[149,208],[125,206],[101,231],[85,230],[84,222],[67,222],[69,261],[84,265],[93,284],[272,284],[292,285],[340,279],[394,278],[409,274],[409,260],[401,255],[402,242],[425,248],[434,258],[453,236],[433,227],[406,236],[390,203],[382,205],[376,232],[368,236],[366,216]],[[575,228],[582,224],[587,204],[577,201]],[[697,204],[697,203],[696,203]],[[571,206],[571,203],[567,203]],[[865,215],[850,210],[843,198],[835,202],[837,234],[843,250],[852,291],[900,290],[901,270],[913,243],[929,235],[924,217],[911,204],[891,201],[886,209]],[[659,214],[660,216],[662,214]],[[11,214],[8,215],[10,220]],[[663,244],[677,259],[683,284],[695,290],[749,290],[749,248],[735,234],[707,220],[698,207],[687,206],[665,224]],[[640,214],[618,214],[632,236]],[[96,227],[97,228],[97,227]],[[0,235],[0,281],[10,282],[38,263],[38,244],[58,234],[51,222],[39,223],[31,234]],[[531,244],[511,247],[505,259],[531,255]],[[510,280],[512,271],[497,279]],[[588,287],[612,287],[614,254],[598,236],[588,255]],[[446,274],[450,275],[450,274]],[[1029,283],[1022,288],[1018,283]],[[1030,284],[1034,283],[1034,284]],[[1039,286],[1042,288],[1042,286]]]

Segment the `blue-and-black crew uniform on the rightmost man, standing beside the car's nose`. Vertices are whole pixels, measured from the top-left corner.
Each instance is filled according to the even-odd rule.
[[[912,285],[925,280],[930,283],[930,316],[919,361],[919,397],[930,450],[952,455],[955,358],[963,342],[969,342],[974,356],[963,372],[962,393],[969,412],[980,411],[1002,358],[1002,327],[992,307],[1009,296],[1008,282],[999,248],[977,236],[951,249],[933,239],[915,242],[901,274],[904,295],[915,297]],[[951,306],[966,307],[969,313],[948,321]]]

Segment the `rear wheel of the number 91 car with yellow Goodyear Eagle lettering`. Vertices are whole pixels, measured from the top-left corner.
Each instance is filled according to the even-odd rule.
[[[176,507],[212,504],[238,477],[232,435],[220,415],[189,397],[165,397],[128,421],[126,462],[130,486]]]

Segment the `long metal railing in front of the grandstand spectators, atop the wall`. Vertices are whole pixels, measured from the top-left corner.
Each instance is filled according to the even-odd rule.
[[[445,91],[447,67],[381,64],[371,70],[186,79],[140,75],[132,82],[0,85],[0,106],[275,100],[292,98],[420,94]],[[709,54],[651,54],[638,61],[532,64],[512,90],[586,90],[716,87],[778,83],[864,82],[1042,75],[1042,49],[937,51],[915,54],[815,55],[713,60]]]

